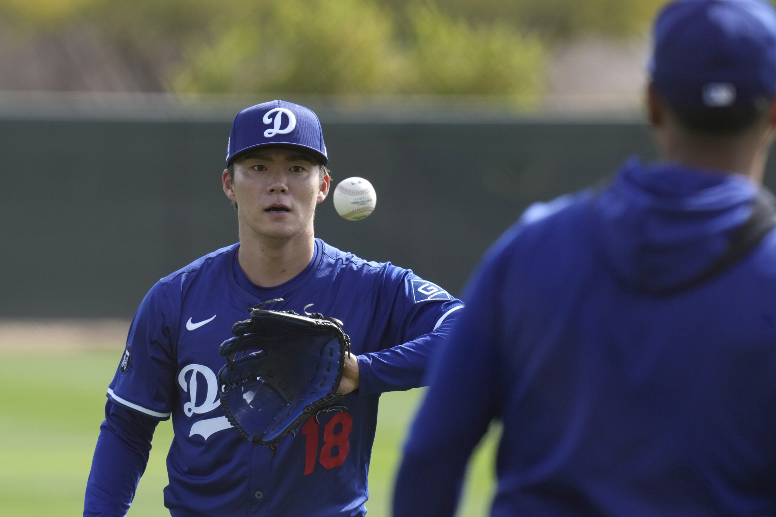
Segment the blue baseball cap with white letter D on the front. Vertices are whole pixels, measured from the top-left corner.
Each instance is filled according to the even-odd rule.
[[[227,167],[240,154],[261,147],[296,149],[321,164],[329,162],[317,115],[291,102],[263,102],[237,113],[229,135]]]

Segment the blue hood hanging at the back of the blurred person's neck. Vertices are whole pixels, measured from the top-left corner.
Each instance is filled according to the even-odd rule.
[[[740,174],[632,158],[594,201],[605,262],[633,288],[668,289],[706,271],[752,210],[757,185]]]

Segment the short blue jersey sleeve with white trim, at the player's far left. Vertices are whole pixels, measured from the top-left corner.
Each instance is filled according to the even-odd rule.
[[[175,341],[180,320],[175,303],[161,282],[137,309],[119,367],[108,388],[116,404],[166,420],[175,392]]]

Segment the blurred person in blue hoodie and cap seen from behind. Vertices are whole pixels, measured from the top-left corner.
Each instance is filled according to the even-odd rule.
[[[654,26],[661,160],[534,205],[433,362],[394,515],[453,515],[503,422],[491,515],[776,515],[776,14],[681,0]]]

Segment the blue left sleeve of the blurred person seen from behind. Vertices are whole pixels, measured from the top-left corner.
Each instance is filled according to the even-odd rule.
[[[475,274],[461,311],[429,367],[430,388],[404,446],[393,515],[452,517],[466,463],[501,412],[500,264]],[[465,425],[462,425],[465,422]]]

